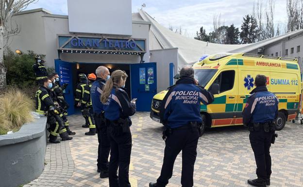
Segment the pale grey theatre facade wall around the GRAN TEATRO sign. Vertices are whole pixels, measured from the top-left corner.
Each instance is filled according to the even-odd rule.
[[[27,52],[32,50],[38,54],[45,54],[45,65],[54,67],[54,59],[58,58],[57,34],[69,33],[68,17],[61,15],[47,14],[42,11],[20,14],[13,17],[13,23],[21,26],[19,34],[12,36],[8,42],[12,51],[21,50]],[[93,24],[93,23],[92,23]],[[150,62],[149,52],[149,30],[150,23],[146,21],[133,21],[132,38],[146,39],[146,53],[143,60]],[[79,34],[102,36],[101,34]],[[117,36],[126,38],[125,36]],[[139,63],[139,55],[118,55],[118,54],[83,54],[83,53],[61,53],[60,58],[69,62],[100,62],[100,63]]]

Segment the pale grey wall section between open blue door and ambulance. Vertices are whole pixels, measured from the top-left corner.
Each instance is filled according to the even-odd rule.
[[[169,86],[169,63],[174,63],[174,74],[178,73],[178,48],[151,50],[150,62],[157,62],[157,91]]]

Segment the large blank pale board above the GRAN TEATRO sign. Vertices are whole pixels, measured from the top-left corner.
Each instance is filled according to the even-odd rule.
[[[131,0],[67,0],[71,33],[132,35]]]

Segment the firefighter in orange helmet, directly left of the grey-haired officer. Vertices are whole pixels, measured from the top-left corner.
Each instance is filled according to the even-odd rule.
[[[97,77],[94,73],[90,73],[87,75],[87,78],[89,83],[84,86],[83,99],[81,101],[81,108],[84,110],[89,123],[89,132],[85,133],[85,135],[96,135],[96,125],[93,106],[90,98],[90,88]]]

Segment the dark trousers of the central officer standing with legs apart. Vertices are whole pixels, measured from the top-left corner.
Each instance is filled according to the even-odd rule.
[[[164,159],[157,184],[165,186],[172,176],[173,165],[177,155],[182,151],[182,187],[193,187],[194,165],[197,157],[199,139],[198,128],[172,129],[165,142]]]

